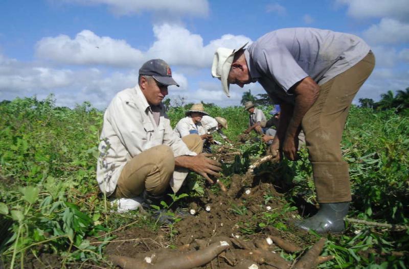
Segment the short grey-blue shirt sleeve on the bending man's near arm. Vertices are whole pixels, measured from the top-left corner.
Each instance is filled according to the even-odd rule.
[[[273,44],[256,47],[256,66],[286,92],[297,82],[308,77],[285,45]]]

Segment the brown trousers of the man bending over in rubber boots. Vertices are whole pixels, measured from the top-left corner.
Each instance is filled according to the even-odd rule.
[[[340,142],[352,100],[374,66],[375,57],[370,51],[357,64],[321,85],[318,99],[302,120],[319,203],[351,201],[349,167],[342,159]]]

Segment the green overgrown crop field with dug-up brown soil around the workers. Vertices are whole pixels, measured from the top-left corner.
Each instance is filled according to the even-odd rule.
[[[254,260],[253,249],[260,254],[260,268],[289,268],[321,237],[326,239],[321,256],[332,259],[322,260],[319,268],[409,264],[407,116],[351,108],[342,142],[353,192],[347,230],[320,236],[291,225],[317,206],[306,149],[297,161],[266,162],[246,174],[264,156],[265,145],[256,137],[239,141],[247,123],[242,107],[205,104],[211,115],[228,120],[225,134],[235,141],[213,148],[228,192],[190,173],[163,207],[195,209],[195,215],[161,225],[146,212],[116,213],[99,193],[96,158],[103,111],[90,103],[74,109],[54,104],[53,96],[0,103],[0,268],[115,268],[112,261],[124,265],[116,255],[171,266],[173,257],[220,240],[234,247],[199,268],[247,268],[236,260]],[[173,125],[185,110],[169,109]],[[265,244],[267,237],[274,242]]]

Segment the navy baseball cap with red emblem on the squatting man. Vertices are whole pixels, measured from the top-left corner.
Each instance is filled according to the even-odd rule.
[[[139,69],[139,75],[152,76],[163,85],[179,87],[179,84],[172,78],[170,66],[162,59],[152,59],[144,63]]]

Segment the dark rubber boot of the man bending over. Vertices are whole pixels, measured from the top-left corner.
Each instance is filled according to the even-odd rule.
[[[320,204],[320,210],[312,217],[296,222],[297,228],[317,233],[340,233],[345,230],[344,217],[348,214],[349,202]]]

